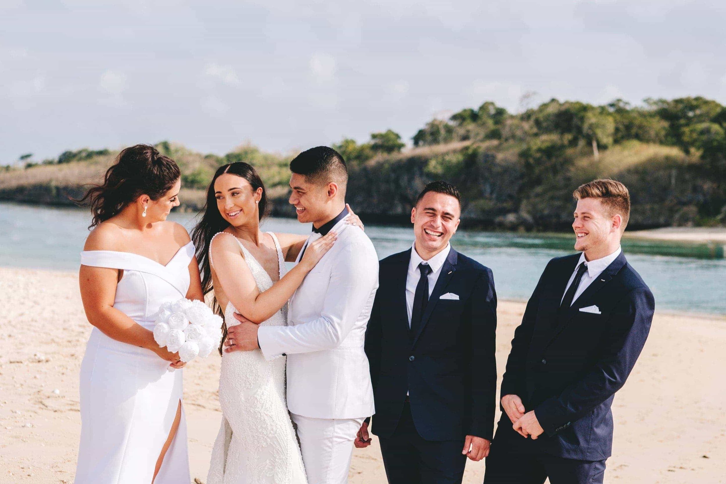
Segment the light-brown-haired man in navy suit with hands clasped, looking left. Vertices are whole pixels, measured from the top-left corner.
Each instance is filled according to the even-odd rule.
[[[582,252],[547,264],[515,331],[485,484],[603,482],[613,397],[643,350],[655,303],[620,248],[627,188],[595,180],[574,198]]]

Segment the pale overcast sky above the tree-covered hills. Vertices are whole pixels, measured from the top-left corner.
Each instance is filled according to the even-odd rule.
[[[492,100],[726,104],[722,0],[0,0],[0,163],[163,139],[410,143]]]

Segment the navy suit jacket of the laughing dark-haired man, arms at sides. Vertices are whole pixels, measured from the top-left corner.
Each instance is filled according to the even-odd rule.
[[[409,391],[425,440],[491,440],[496,409],[497,294],[489,268],[453,248],[441,268],[420,329],[409,335],[406,278],[411,250],[380,261],[365,350],[375,398],[371,431],[393,435]],[[446,292],[458,300],[440,299]]]

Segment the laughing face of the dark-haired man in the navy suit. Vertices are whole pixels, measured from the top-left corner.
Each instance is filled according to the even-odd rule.
[[[416,251],[428,261],[441,252],[456,233],[461,208],[451,195],[428,192],[411,210]]]

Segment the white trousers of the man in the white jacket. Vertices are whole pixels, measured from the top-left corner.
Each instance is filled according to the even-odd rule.
[[[308,484],[346,484],[360,419],[313,419],[291,414],[298,427]]]

